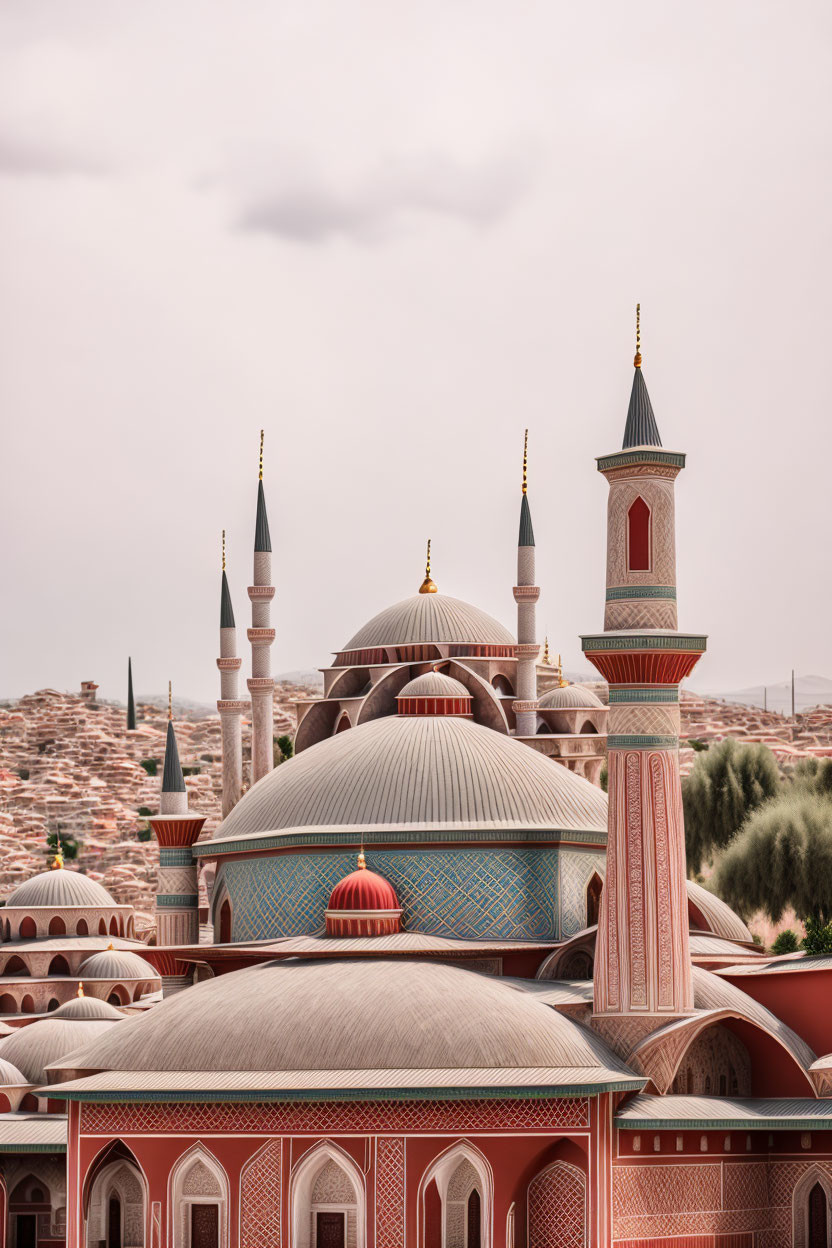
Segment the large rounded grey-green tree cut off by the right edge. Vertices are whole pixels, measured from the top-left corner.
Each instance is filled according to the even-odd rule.
[[[832,801],[790,792],[753,811],[715,874],[740,914],[777,922],[791,906],[808,924],[832,920]]]

